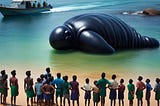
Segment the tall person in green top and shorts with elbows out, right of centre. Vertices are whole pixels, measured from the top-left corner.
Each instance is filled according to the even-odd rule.
[[[99,87],[99,93],[101,97],[101,106],[105,105],[105,97],[106,97],[106,85],[111,84],[109,80],[106,78],[106,74],[103,72],[101,74],[101,79],[97,81],[97,86]]]

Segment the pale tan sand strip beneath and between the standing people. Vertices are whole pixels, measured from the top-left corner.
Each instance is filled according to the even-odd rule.
[[[1,66],[1,67],[5,67],[5,66]],[[25,71],[26,70],[31,70],[31,74],[32,74],[31,77],[34,79],[34,82],[35,82],[37,77],[39,77],[39,75],[41,73],[45,73],[45,68],[46,68],[45,66],[39,67],[39,68],[30,67],[30,69],[27,68],[27,67],[18,67],[18,68],[16,68],[16,70],[17,70],[17,78],[19,80],[19,96],[17,97],[17,105],[20,105],[20,106],[25,106],[26,105],[26,95],[25,95],[25,92],[24,92],[24,89],[23,89],[23,81],[24,81],[24,78],[26,77],[25,76]],[[12,70],[12,69],[13,69],[13,67],[8,67],[6,69],[6,72],[7,72],[8,76],[9,76],[9,78],[11,76],[10,75],[10,70]],[[54,78],[56,78],[56,73],[58,73],[58,72],[62,73],[62,76],[68,75],[69,76],[69,81],[72,80],[72,76],[73,75],[77,75],[77,77],[78,77],[77,81],[80,83],[80,87],[82,87],[84,85],[85,78],[89,78],[90,79],[90,84],[92,86],[94,86],[93,85],[94,80],[100,79],[100,76],[101,76],[102,72],[106,73],[106,78],[109,79],[109,80],[111,79],[112,74],[116,74],[117,75],[117,79],[116,80],[118,81],[118,83],[119,83],[119,80],[121,78],[124,78],[124,80],[125,80],[124,84],[125,85],[128,84],[129,78],[132,78],[133,81],[134,81],[133,83],[136,84],[137,78],[139,76],[139,74],[136,73],[136,72],[135,73],[127,73],[127,72],[125,72],[125,73],[116,73],[116,72],[110,72],[109,70],[105,70],[105,69],[101,70],[101,71],[97,71],[97,72],[84,72],[83,70],[79,71],[79,72],[75,72],[75,71],[70,71],[70,70],[67,70],[67,69],[61,71],[61,70],[57,70],[56,68],[54,68],[54,69],[51,68],[51,73],[54,76]],[[154,73],[152,73],[152,75],[151,74],[143,74],[142,76],[144,78],[143,81],[145,81],[146,78],[150,78],[152,87],[154,87],[155,78],[157,77],[157,74],[154,74]],[[128,90],[126,88],[126,90],[125,90],[125,99],[124,99],[125,106],[128,105],[128,99],[127,99],[128,96],[127,95],[128,95]],[[156,105],[156,101],[154,100],[154,97],[155,97],[154,95],[155,95],[155,93],[152,91],[152,93],[151,93],[151,106]],[[109,96],[109,90],[107,89],[106,105],[110,104],[110,100],[109,100],[108,96]],[[144,91],[144,96],[145,96],[145,91]],[[143,103],[144,106],[146,106],[145,98],[143,98],[143,101],[144,101],[144,103]],[[10,104],[10,89],[8,90],[7,104]],[[134,99],[134,106],[136,104],[137,104],[137,100],[135,98]],[[100,103],[99,103],[99,105],[100,105]],[[82,91],[81,89],[80,89],[80,106],[84,106],[84,91]],[[90,106],[93,106],[92,99],[91,99],[91,105]],[[118,106],[118,100],[116,100],[116,106]]]

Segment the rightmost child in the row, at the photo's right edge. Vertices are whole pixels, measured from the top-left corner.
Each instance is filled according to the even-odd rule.
[[[155,100],[157,100],[157,106],[159,106],[159,99],[160,99],[160,79],[159,78],[156,78],[154,92],[155,92]]]

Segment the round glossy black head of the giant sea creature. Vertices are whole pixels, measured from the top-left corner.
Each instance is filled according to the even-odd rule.
[[[55,28],[50,34],[50,45],[58,50],[65,50],[71,47],[72,33],[66,26],[59,26]]]

